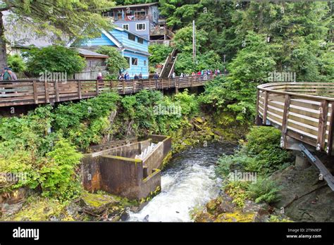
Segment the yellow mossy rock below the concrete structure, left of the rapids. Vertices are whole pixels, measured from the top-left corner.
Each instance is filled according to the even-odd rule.
[[[119,201],[113,198],[113,196],[101,195],[101,194],[82,194],[80,205],[82,211],[85,213],[101,214],[109,208],[115,208],[119,204]]]

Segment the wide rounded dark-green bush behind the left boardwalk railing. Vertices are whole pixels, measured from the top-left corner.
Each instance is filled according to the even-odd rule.
[[[80,57],[78,51],[63,46],[32,48],[25,53],[25,57],[27,70],[34,75],[45,72],[73,75],[86,65],[85,58]]]

